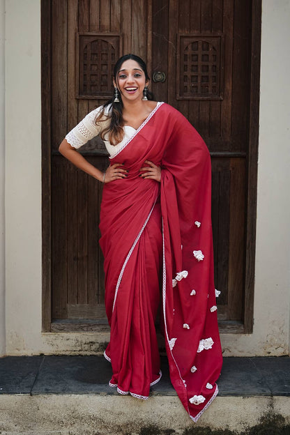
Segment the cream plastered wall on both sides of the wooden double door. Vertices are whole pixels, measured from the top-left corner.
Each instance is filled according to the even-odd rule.
[[[289,353],[289,0],[262,21],[254,333],[222,335],[227,356]],[[41,333],[40,164],[40,1],[6,0],[6,351],[98,351],[106,334]]]

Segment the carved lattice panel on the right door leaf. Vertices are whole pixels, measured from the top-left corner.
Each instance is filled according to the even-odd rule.
[[[178,99],[222,99],[222,36],[179,36]]]

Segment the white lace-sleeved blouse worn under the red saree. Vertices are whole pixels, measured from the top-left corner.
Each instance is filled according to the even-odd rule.
[[[139,129],[141,129],[144,126],[144,124],[151,118],[151,116],[155,113],[155,111],[158,109],[158,107],[161,104],[162,104],[161,102],[157,103],[157,106],[155,107],[155,109],[153,109],[153,111],[146,118],[144,123],[142,123],[142,125],[140,125],[138,130],[131,127],[130,125],[124,125],[124,127],[123,127],[124,136],[123,136],[122,141],[119,142],[119,144],[117,144],[115,146],[110,144],[110,142],[108,140],[109,134],[107,133],[105,135],[104,142],[105,142],[105,146],[107,148],[107,151],[108,151],[110,157],[112,157],[112,155],[118,154],[119,151],[121,151],[123,146],[130,140],[130,138],[132,136],[136,135],[136,133],[139,131]],[[89,112],[89,114],[87,114],[84,117],[84,119],[82,119],[82,121],[80,121],[73,128],[73,130],[70,130],[70,132],[68,132],[68,134],[66,135],[66,140],[68,141],[68,143],[71,146],[73,146],[74,148],[79,148],[80,146],[86,144],[86,142],[88,142],[90,139],[93,139],[93,137],[98,136],[102,130],[107,128],[107,126],[109,125],[109,122],[110,122],[109,118],[105,119],[104,121],[98,121],[98,123],[95,122],[95,119],[98,116],[98,114],[100,113],[101,109],[102,109],[102,106],[97,107],[96,109],[93,109],[91,112]],[[111,105],[109,105],[105,108],[105,115],[109,114],[110,109],[111,109]]]

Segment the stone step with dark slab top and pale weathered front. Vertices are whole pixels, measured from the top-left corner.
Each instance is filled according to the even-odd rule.
[[[171,386],[167,358],[146,401],[119,395],[111,374],[102,356],[0,358],[0,434],[230,435],[257,425],[290,434],[289,357],[224,358],[219,395],[197,423]]]

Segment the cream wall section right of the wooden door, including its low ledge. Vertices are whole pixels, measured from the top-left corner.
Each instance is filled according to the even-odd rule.
[[[228,335],[229,355],[289,353],[290,1],[262,1],[254,333]]]

